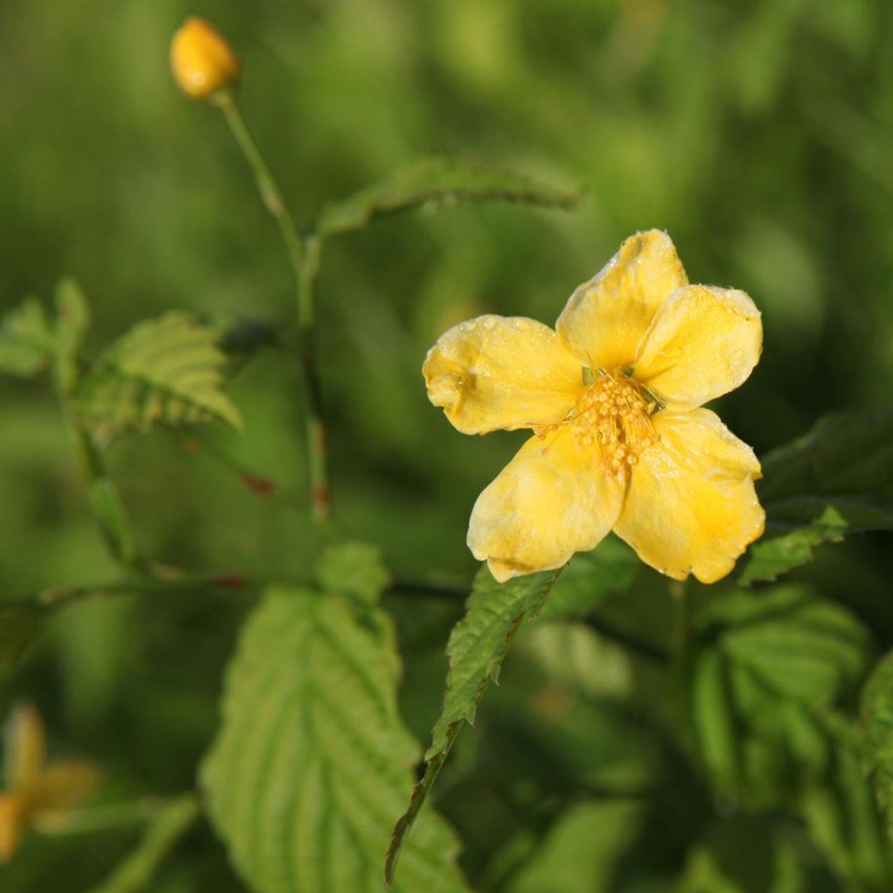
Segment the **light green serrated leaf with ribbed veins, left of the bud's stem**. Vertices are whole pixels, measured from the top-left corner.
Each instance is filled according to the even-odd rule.
[[[240,430],[238,409],[221,389],[227,360],[216,339],[185,313],[139,323],[80,382],[79,415],[106,442],[154,424],[221,421]]]

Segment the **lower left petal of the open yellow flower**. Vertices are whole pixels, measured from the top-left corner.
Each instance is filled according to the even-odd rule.
[[[561,567],[597,547],[622,507],[625,482],[606,475],[573,431],[535,435],[478,497],[468,546],[499,582]]]

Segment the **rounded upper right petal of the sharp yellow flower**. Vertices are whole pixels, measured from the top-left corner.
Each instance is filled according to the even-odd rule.
[[[666,405],[691,409],[738,388],[762,346],[763,323],[749,296],[689,285],[655,313],[638,346],[635,376]]]

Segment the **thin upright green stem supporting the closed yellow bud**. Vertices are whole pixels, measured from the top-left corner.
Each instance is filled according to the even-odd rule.
[[[320,239],[317,236],[302,239],[298,234],[295,221],[282,199],[280,188],[263,160],[254,138],[246,128],[232,94],[229,91],[222,93],[216,104],[230,125],[233,137],[245,155],[246,162],[254,171],[261,199],[279,226],[295,276],[297,325],[305,380],[305,448],[310,505],[317,520],[327,521],[330,515],[330,495],[326,472],[326,437],[322,425],[321,390],[316,371],[313,337],[313,282],[319,270]]]

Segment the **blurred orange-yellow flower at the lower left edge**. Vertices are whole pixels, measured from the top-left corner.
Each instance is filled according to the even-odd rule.
[[[75,805],[96,786],[98,772],[83,760],[45,764],[44,726],[37,710],[19,706],[6,723],[0,792],[0,862],[12,857],[31,824]]]

